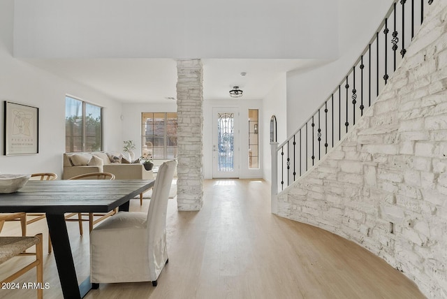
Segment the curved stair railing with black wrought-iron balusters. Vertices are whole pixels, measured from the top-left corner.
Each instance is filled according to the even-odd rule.
[[[422,24],[425,2],[431,5],[432,1],[393,1],[365,50],[328,99],[284,143],[271,143],[272,200],[327,154],[376,100]],[[272,201],[272,212],[273,205]]]

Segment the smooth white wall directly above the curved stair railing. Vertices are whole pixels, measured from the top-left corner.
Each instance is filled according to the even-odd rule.
[[[339,0],[339,59],[287,73],[287,136],[304,124],[360,57],[392,0]],[[367,15],[367,17],[365,17]],[[279,143],[284,140],[279,140]]]

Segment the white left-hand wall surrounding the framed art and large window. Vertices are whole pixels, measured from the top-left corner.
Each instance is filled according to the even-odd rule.
[[[71,94],[91,103],[105,106],[105,149],[119,145],[122,126],[117,120],[121,103],[81,85],[41,71],[12,57],[13,0],[0,1],[0,172],[62,173],[62,153],[65,152],[65,96]],[[22,156],[3,155],[3,101],[12,101],[39,108],[39,153]],[[116,132],[119,132],[118,134]]]

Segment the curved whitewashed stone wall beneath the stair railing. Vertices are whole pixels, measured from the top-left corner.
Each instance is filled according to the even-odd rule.
[[[447,1],[345,138],[278,195],[278,214],[353,240],[447,298]]]

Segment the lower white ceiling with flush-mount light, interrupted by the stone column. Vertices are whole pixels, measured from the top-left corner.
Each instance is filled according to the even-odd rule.
[[[23,60],[117,101],[161,103],[177,96],[174,59]],[[244,91],[242,99],[261,100],[287,71],[322,63],[316,59],[203,59],[203,97],[231,99],[228,92],[239,86]]]

